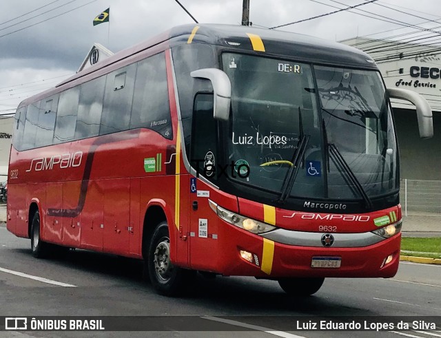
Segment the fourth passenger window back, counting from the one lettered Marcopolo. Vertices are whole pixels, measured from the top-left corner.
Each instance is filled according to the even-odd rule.
[[[74,139],[79,96],[79,86],[70,88],[60,94],[54,144]]]

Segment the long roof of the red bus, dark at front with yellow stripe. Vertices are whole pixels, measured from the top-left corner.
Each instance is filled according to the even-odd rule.
[[[249,34],[251,34],[251,36]],[[256,46],[253,45],[252,42],[252,40],[256,41],[256,39],[262,43],[265,51],[262,49],[256,50]],[[103,70],[112,72],[112,70],[116,69],[116,66],[112,67],[112,65],[125,59],[132,59],[132,56],[137,54],[141,56],[141,54],[143,54],[142,52],[150,50],[152,47],[156,47],[157,52],[160,52],[161,50],[167,49],[167,47],[187,43],[219,45],[227,47],[230,51],[237,50],[237,52],[246,51],[267,56],[286,57],[306,63],[378,70],[376,63],[365,52],[343,45],[342,43],[327,41],[314,36],[242,25],[179,25],[154,36],[152,39],[148,39],[147,41],[143,41],[121,52],[115,53],[101,63],[97,63],[87,70],[74,74],[56,85],[55,88],[48,89],[45,92],[25,99],[20,103],[19,107],[61,92],[63,89],[72,86],[73,82],[78,83],[76,80],[79,78],[85,77],[84,80],[89,81],[94,77],[92,73],[99,70],[101,71],[100,73],[102,73]],[[67,86],[64,87],[64,85]]]

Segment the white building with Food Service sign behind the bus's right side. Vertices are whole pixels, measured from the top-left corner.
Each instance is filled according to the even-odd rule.
[[[391,100],[400,146],[401,204],[441,213],[441,46],[356,38],[341,41],[367,52],[388,88],[422,94],[433,111],[433,138],[421,140],[411,103]]]

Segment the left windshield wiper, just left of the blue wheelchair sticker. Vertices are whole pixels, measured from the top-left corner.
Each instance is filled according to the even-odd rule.
[[[300,107],[298,107],[298,125],[300,129],[300,140],[297,144],[297,149],[296,151],[294,151],[291,159],[292,166],[289,168],[287,176],[285,176],[285,180],[283,181],[282,193],[280,193],[280,198],[276,200],[276,202],[280,204],[286,202],[289,196],[289,192],[291,191],[294,182],[296,181],[298,169],[300,169],[300,164],[302,162],[303,156],[305,155],[306,146],[309,141],[309,135],[305,135],[303,133],[302,111]]]

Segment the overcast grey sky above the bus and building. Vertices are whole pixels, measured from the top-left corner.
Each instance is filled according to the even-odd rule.
[[[243,0],[180,1],[200,23],[240,25]],[[270,28],[363,2],[368,1],[250,0],[250,21]],[[94,17],[109,7],[110,25],[93,26]],[[74,74],[95,42],[118,52],[174,25],[193,22],[174,0],[0,0],[0,114]],[[278,29],[341,41],[416,31],[403,28],[404,23],[438,27],[440,0],[377,0],[358,10]]]

